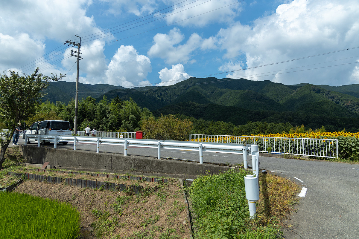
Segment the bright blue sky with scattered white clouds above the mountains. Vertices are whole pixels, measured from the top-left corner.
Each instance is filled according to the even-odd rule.
[[[359,83],[358,16],[357,0],[1,1],[0,71],[76,81],[76,49],[64,43],[79,35],[81,83],[348,85]]]

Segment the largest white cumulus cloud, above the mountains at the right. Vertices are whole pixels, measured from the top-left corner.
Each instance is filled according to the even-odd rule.
[[[216,38],[218,44],[226,51],[224,58],[230,62],[242,56],[246,59],[245,67],[255,67],[264,64],[286,61],[315,54],[333,52],[336,50],[357,46],[359,35],[359,5],[355,1],[313,1],[294,0],[288,4],[279,5],[274,14],[258,18],[253,25],[242,25],[237,22],[227,29],[221,29]],[[353,50],[353,56],[358,50]],[[348,54],[346,55],[348,56]],[[266,77],[254,77],[252,80],[272,80],[284,84],[293,82],[308,82],[341,85],[341,78],[348,79],[353,64],[351,60],[336,61],[345,58],[340,53],[328,54],[322,57],[307,58],[274,66],[253,68],[245,71],[230,73],[227,77],[239,78],[266,73]],[[355,60],[355,58],[354,58]],[[329,62],[330,63],[323,63]],[[317,66],[314,64],[323,63]],[[306,65],[312,65],[302,67]],[[296,71],[281,74],[293,67]],[[320,70],[298,71],[321,66],[332,66]],[[244,67],[243,67],[244,68]],[[234,70],[233,63],[224,64],[221,70]],[[310,73],[308,73],[310,72]],[[310,77],[308,77],[310,76]],[[249,77],[247,77],[249,78]],[[355,74],[351,75],[355,78]],[[359,82],[359,78],[356,79]]]

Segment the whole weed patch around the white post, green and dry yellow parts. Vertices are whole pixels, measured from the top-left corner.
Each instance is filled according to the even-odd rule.
[[[261,174],[257,217],[250,219],[244,169],[198,177],[190,187],[196,238],[276,238],[279,220],[295,203],[298,186],[284,178]]]

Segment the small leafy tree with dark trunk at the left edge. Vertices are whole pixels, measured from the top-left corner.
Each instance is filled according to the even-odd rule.
[[[41,102],[40,98],[45,95],[42,90],[46,89],[49,82],[65,77],[62,74],[59,77],[54,74],[44,76],[38,71],[39,68],[36,68],[31,75],[22,76],[15,71],[8,71],[8,74],[5,71],[3,74],[0,73],[0,118],[4,119],[9,127],[5,139],[0,138],[0,169],[3,168],[5,151],[17,123],[27,120],[29,115],[35,113],[36,106]]]

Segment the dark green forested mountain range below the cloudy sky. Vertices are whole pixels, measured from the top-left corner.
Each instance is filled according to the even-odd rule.
[[[75,96],[75,82],[51,82],[44,100],[68,103]],[[130,97],[155,116],[181,114],[196,119],[231,122],[304,124],[337,131],[359,130],[359,85],[327,86],[302,83],[283,85],[271,81],[191,77],[172,86],[126,89],[122,86],[79,84],[79,100]]]

